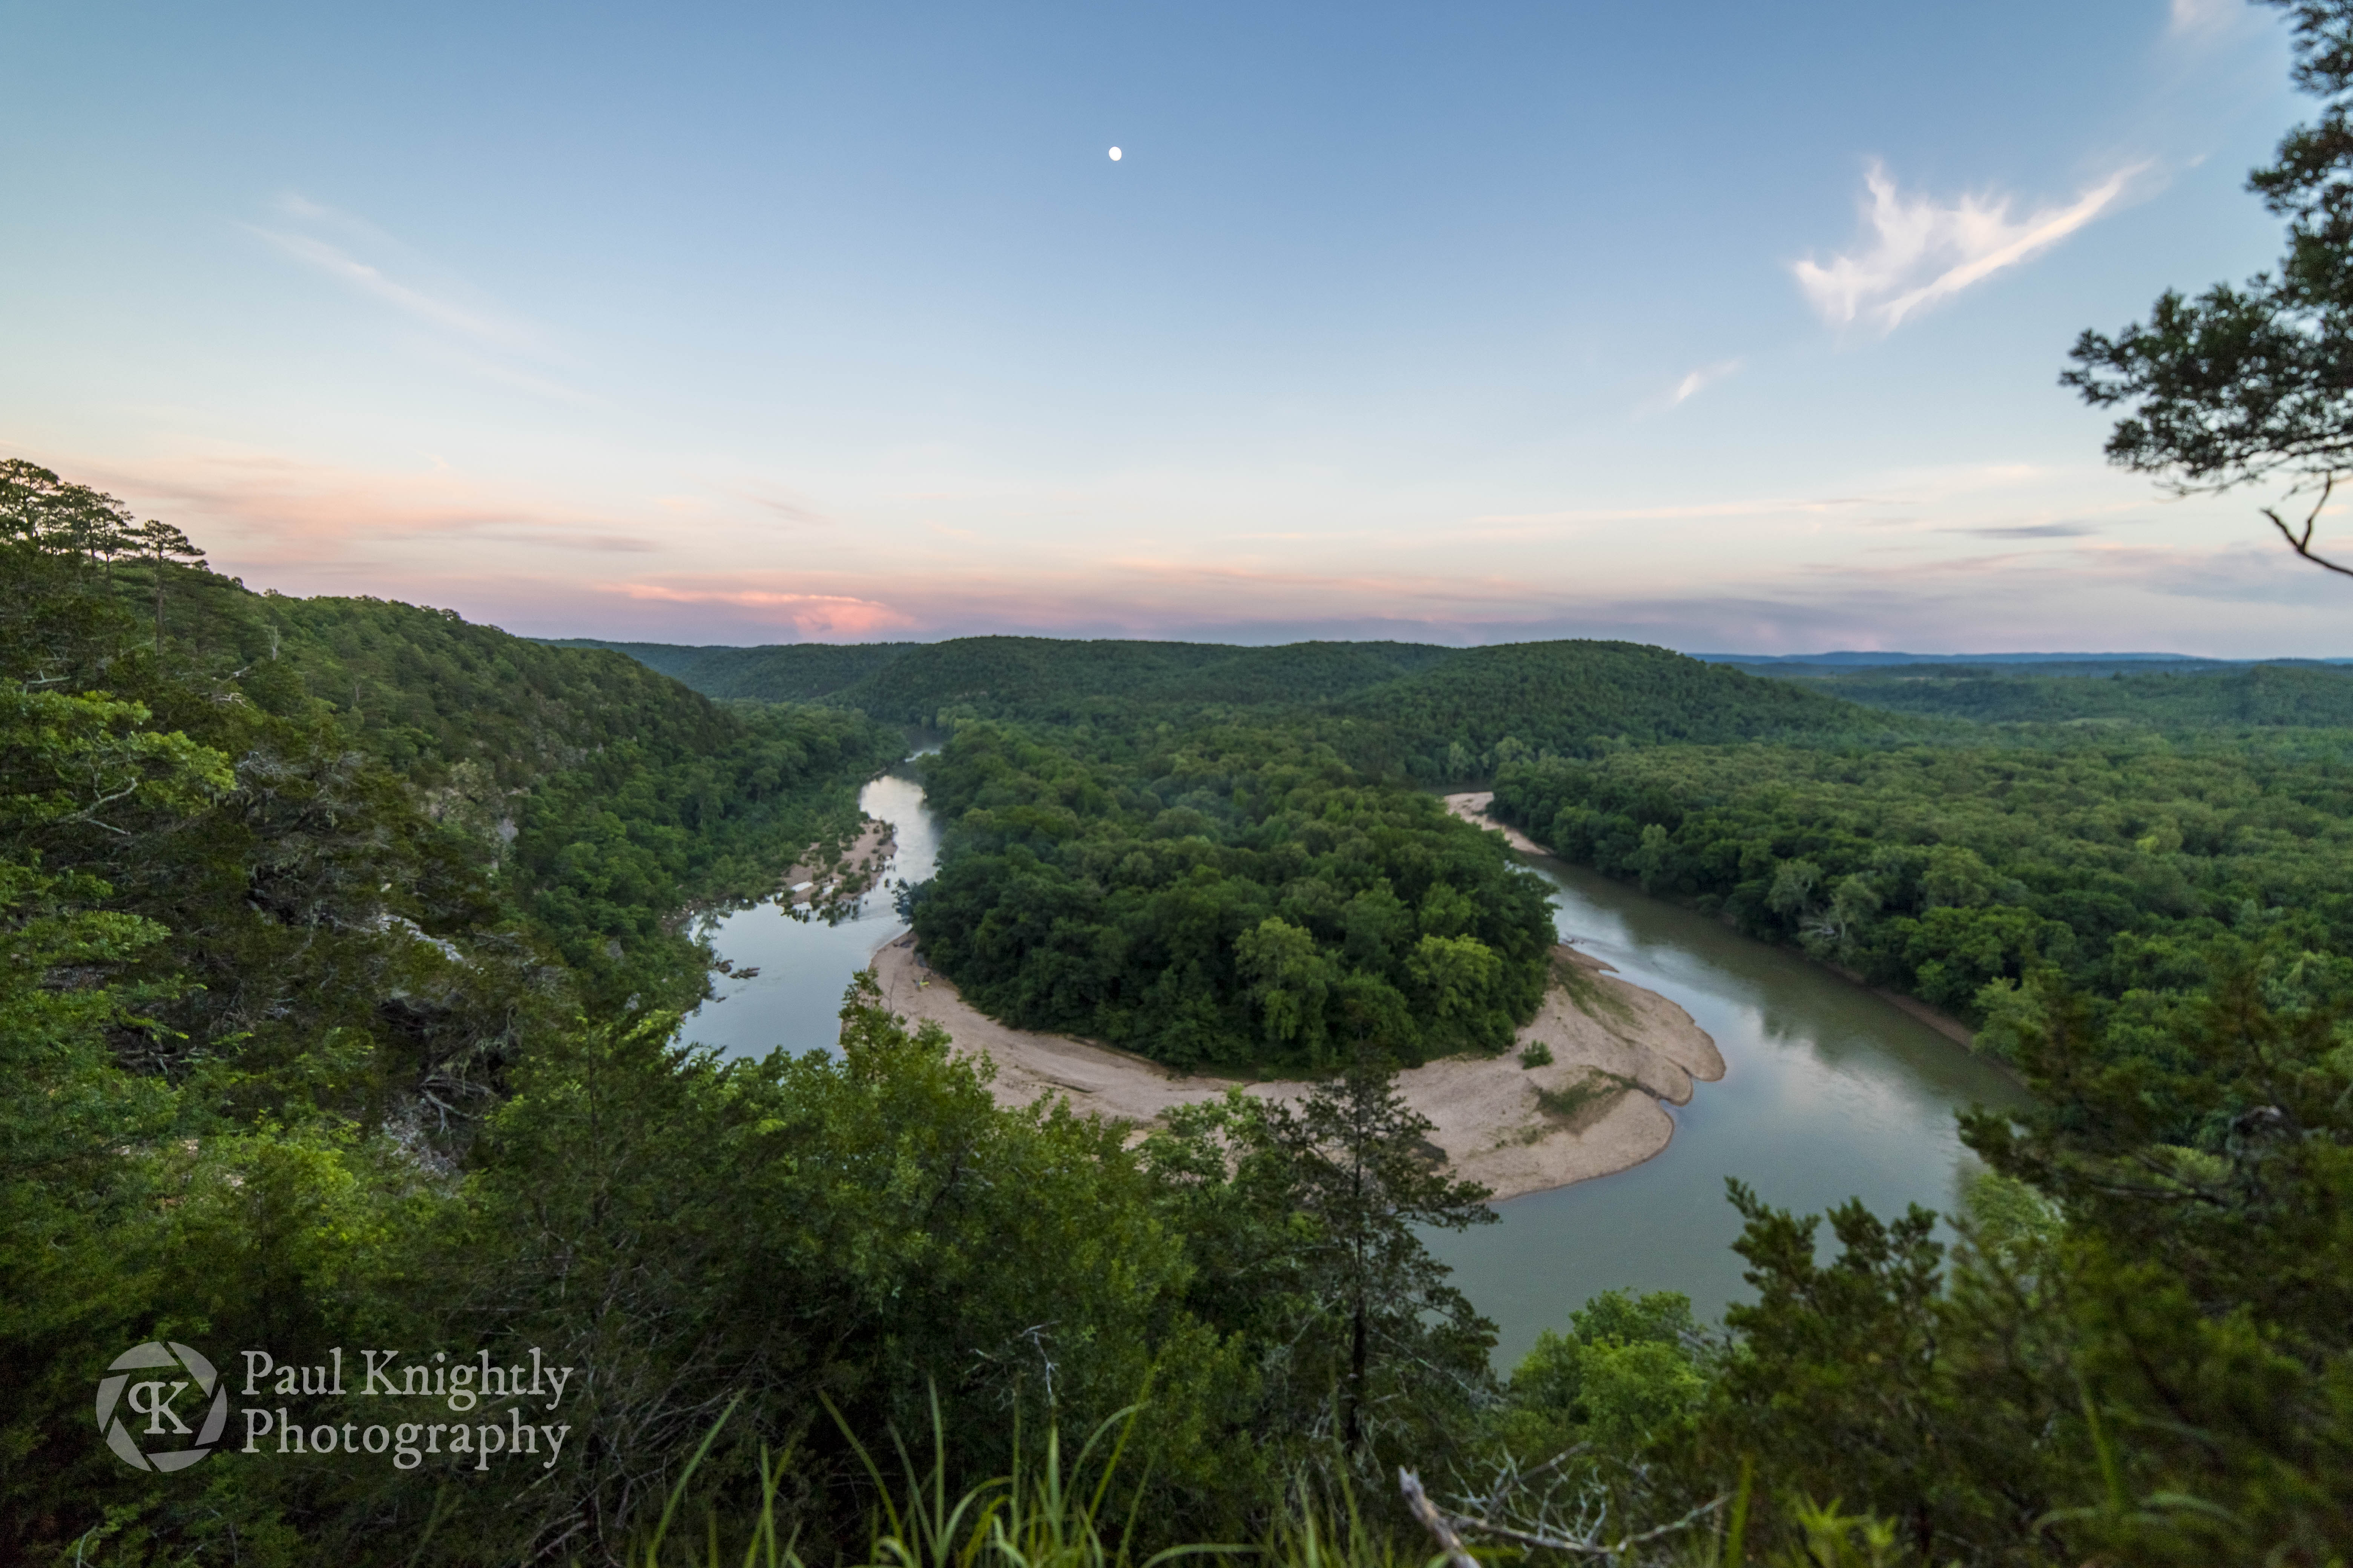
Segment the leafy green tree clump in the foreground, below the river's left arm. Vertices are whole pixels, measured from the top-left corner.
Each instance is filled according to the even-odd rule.
[[[713,1502],[755,1495],[762,1441],[802,1486],[847,1483],[845,1429],[922,1432],[934,1399],[960,1474],[1012,1462],[1024,1413],[1092,1427],[1144,1387],[1167,1410],[1153,1467],[1207,1469],[1188,1418],[1238,1380],[1235,1349],[1172,1312],[1181,1244],[1118,1128],[998,1110],[936,1025],[908,1034],[871,987],[838,1058],[720,1063],[671,1023],[536,1053],[421,1260],[494,1361],[536,1345],[593,1368],[572,1420],[598,1441],[527,1507],[471,1505],[468,1540],[522,1559],[586,1519],[621,1549],[729,1401],[699,1472]]]

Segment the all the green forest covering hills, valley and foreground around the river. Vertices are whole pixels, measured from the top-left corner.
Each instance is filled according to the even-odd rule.
[[[1624,644],[962,639],[715,703],[659,649],[254,595],[0,482],[9,1556],[1384,1568],[1431,1554],[1400,1467],[1544,1561],[2353,1540],[2353,731],[2301,696],[1981,722]],[[1005,1110],[866,983],[838,1053],[682,1048],[687,914],[847,832],[908,719],[946,731],[904,889],[944,973],[1311,1093]],[[1951,1227],[1734,1182],[1722,1324],[1607,1293],[1492,1368],[1424,1237],[1494,1211],[1393,1079],[1548,978],[1541,889],[1433,792],[1487,780],[1565,856],[1981,1023],[2035,1110],[1967,1121]],[[89,1425],[144,1340],[584,1371],[527,1486],[421,1425],[158,1483]]]

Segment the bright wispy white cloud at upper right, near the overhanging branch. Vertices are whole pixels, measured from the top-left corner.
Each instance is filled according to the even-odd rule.
[[[1828,263],[1793,263],[1798,287],[1833,327],[1864,322],[1894,331],[1906,317],[1984,282],[2007,266],[2059,244],[2115,207],[2148,165],[2118,169],[2066,207],[2042,207],[2012,219],[2007,195],[1962,195],[1939,202],[1904,195],[1887,167],[1864,174],[1868,242]]]

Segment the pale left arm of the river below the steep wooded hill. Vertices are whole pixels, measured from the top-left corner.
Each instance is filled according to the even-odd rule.
[[[706,926],[720,957],[736,969],[758,969],[751,980],[713,976],[720,994],[687,1016],[685,1037],[718,1046],[727,1056],[786,1051],[833,1051],[838,1046],[842,987],[866,969],[875,947],[906,931],[892,910],[889,884],[922,882],[939,856],[939,823],[922,804],[922,785],[904,773],[885,773],[859,795],[866,816],[899,830],[899,853],[882,886],[859,912],[835,926],[791,919],[781,905],[734,910]]]

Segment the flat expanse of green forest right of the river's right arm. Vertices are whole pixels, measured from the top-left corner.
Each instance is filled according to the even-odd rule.
[[[1508,769],[1497,813],[1974,1020],[2040,966],[2151,1013],[2224,933],[2353,938],[2353,769],[2313,750],[1661,748]]]

